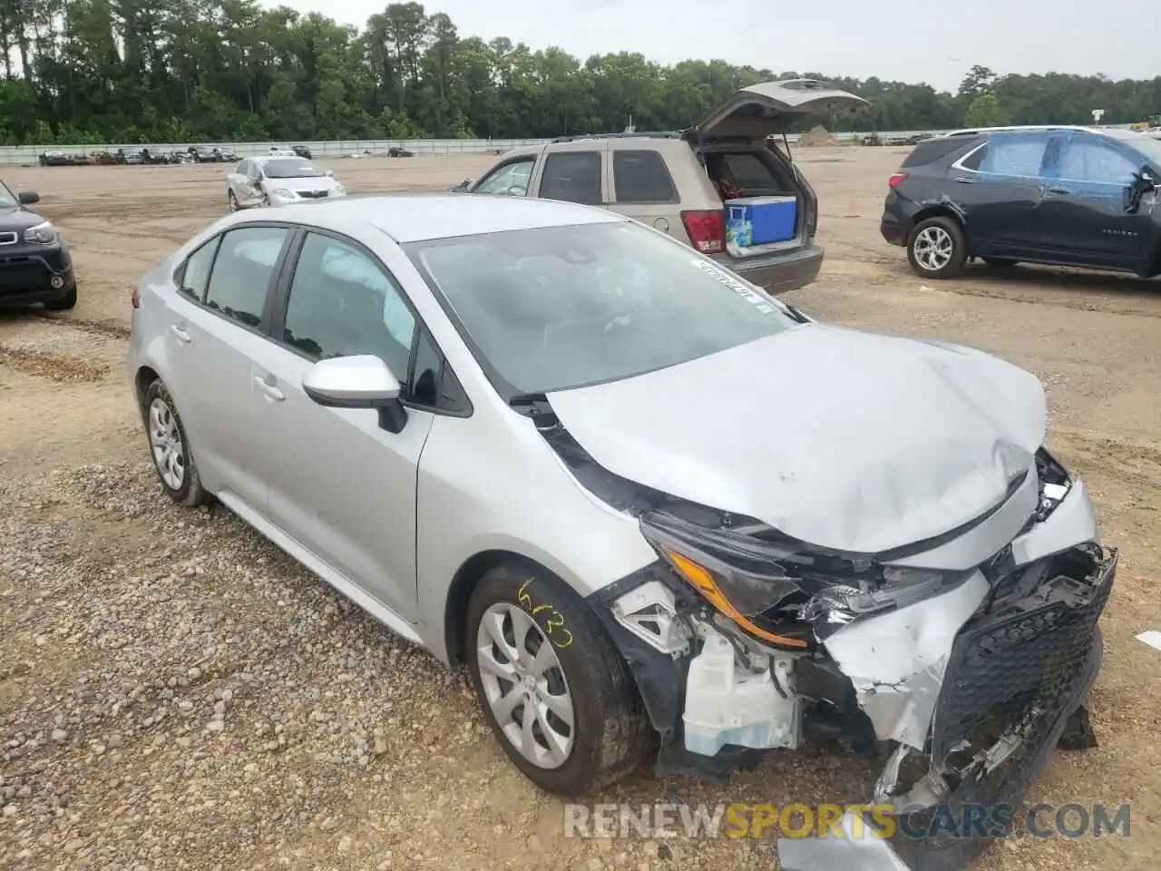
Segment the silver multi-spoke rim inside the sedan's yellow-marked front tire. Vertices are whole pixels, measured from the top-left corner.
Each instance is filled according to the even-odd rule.
[[[518,605],[491,605],[477,628],[476,664],[492,715],[517,751],[538,768],[568,762],[576,743],[572,696],[536,621]]]

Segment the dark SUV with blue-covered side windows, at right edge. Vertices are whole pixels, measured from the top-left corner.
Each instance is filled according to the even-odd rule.
[[[1161,274],[1161,141],[1132,130],[959,130],[890,177],[880,230],[926,279],[968,258]]]

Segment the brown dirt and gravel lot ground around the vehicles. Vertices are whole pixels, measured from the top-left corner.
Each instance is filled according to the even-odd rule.
[[[1091,700],[1099,748],[1034,798],[1132,802],[1130,838],[1009,841],[987,869],[1156,868],[1161,852],[1161,283],[982,267],[924,286],[878,236],[895,149],[800,152],[823,274],[789,301],[1000,354],[1047,384],[1051,446],[1123,548]],[[486,157],[336,160],[355,192],[440,189]],[[222,167],[6,168],[72,242],[67,316],[0,314],[0,868],[771,868],[773,842],[580,841],[452,675],[228,512],[171,508],[123,373],[142,272],[225,208]],[[1149,690],[1149,688],[1153,690]],[[863,800],[822,749],[728,787],[644,776],[601,800]]]

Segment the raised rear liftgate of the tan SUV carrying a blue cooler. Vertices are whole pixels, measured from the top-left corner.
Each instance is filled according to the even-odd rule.
[[[851,111],[868,105],[861,96],[831,88],[819,79],[760,81],[738,89],[686,134],[702,139],[765,139],[786,132],[800,118]]]

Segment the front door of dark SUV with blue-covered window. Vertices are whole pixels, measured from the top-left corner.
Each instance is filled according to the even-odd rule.
[[[1152,226],[1147,213],[1124,208],[1139,159],[1083,131],[1060,135],[1057,144],[1059,157],[1046,172],[1040,210],[1060,259],[1135,268]]]

